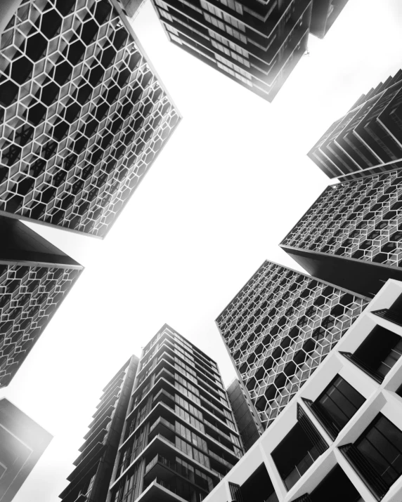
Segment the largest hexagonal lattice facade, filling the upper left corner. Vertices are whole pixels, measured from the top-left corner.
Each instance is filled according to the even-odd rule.
[[[0,39],[0,211],[103,237],[179,121],[115,0],[22,0]]]

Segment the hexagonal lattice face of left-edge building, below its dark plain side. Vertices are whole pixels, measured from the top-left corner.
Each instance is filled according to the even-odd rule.
[[[0,264],[0,387],[8,385],[81,273]]]

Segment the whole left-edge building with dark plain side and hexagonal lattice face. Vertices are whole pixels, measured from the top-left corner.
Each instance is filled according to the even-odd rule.
[[[81,272],[29,227],[0,216],[0,387],[10,383]]]

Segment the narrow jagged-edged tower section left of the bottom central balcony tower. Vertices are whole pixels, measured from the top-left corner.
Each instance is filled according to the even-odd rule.
[[[67,477],[70,484],[60,494],[63,502],[105,502],[137,369],[133,355],[103,389],[76,467]]]

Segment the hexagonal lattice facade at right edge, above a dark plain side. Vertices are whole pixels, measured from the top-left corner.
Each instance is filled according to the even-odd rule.
[[[401,267],[401,171],[329,186],[281,244]]]

